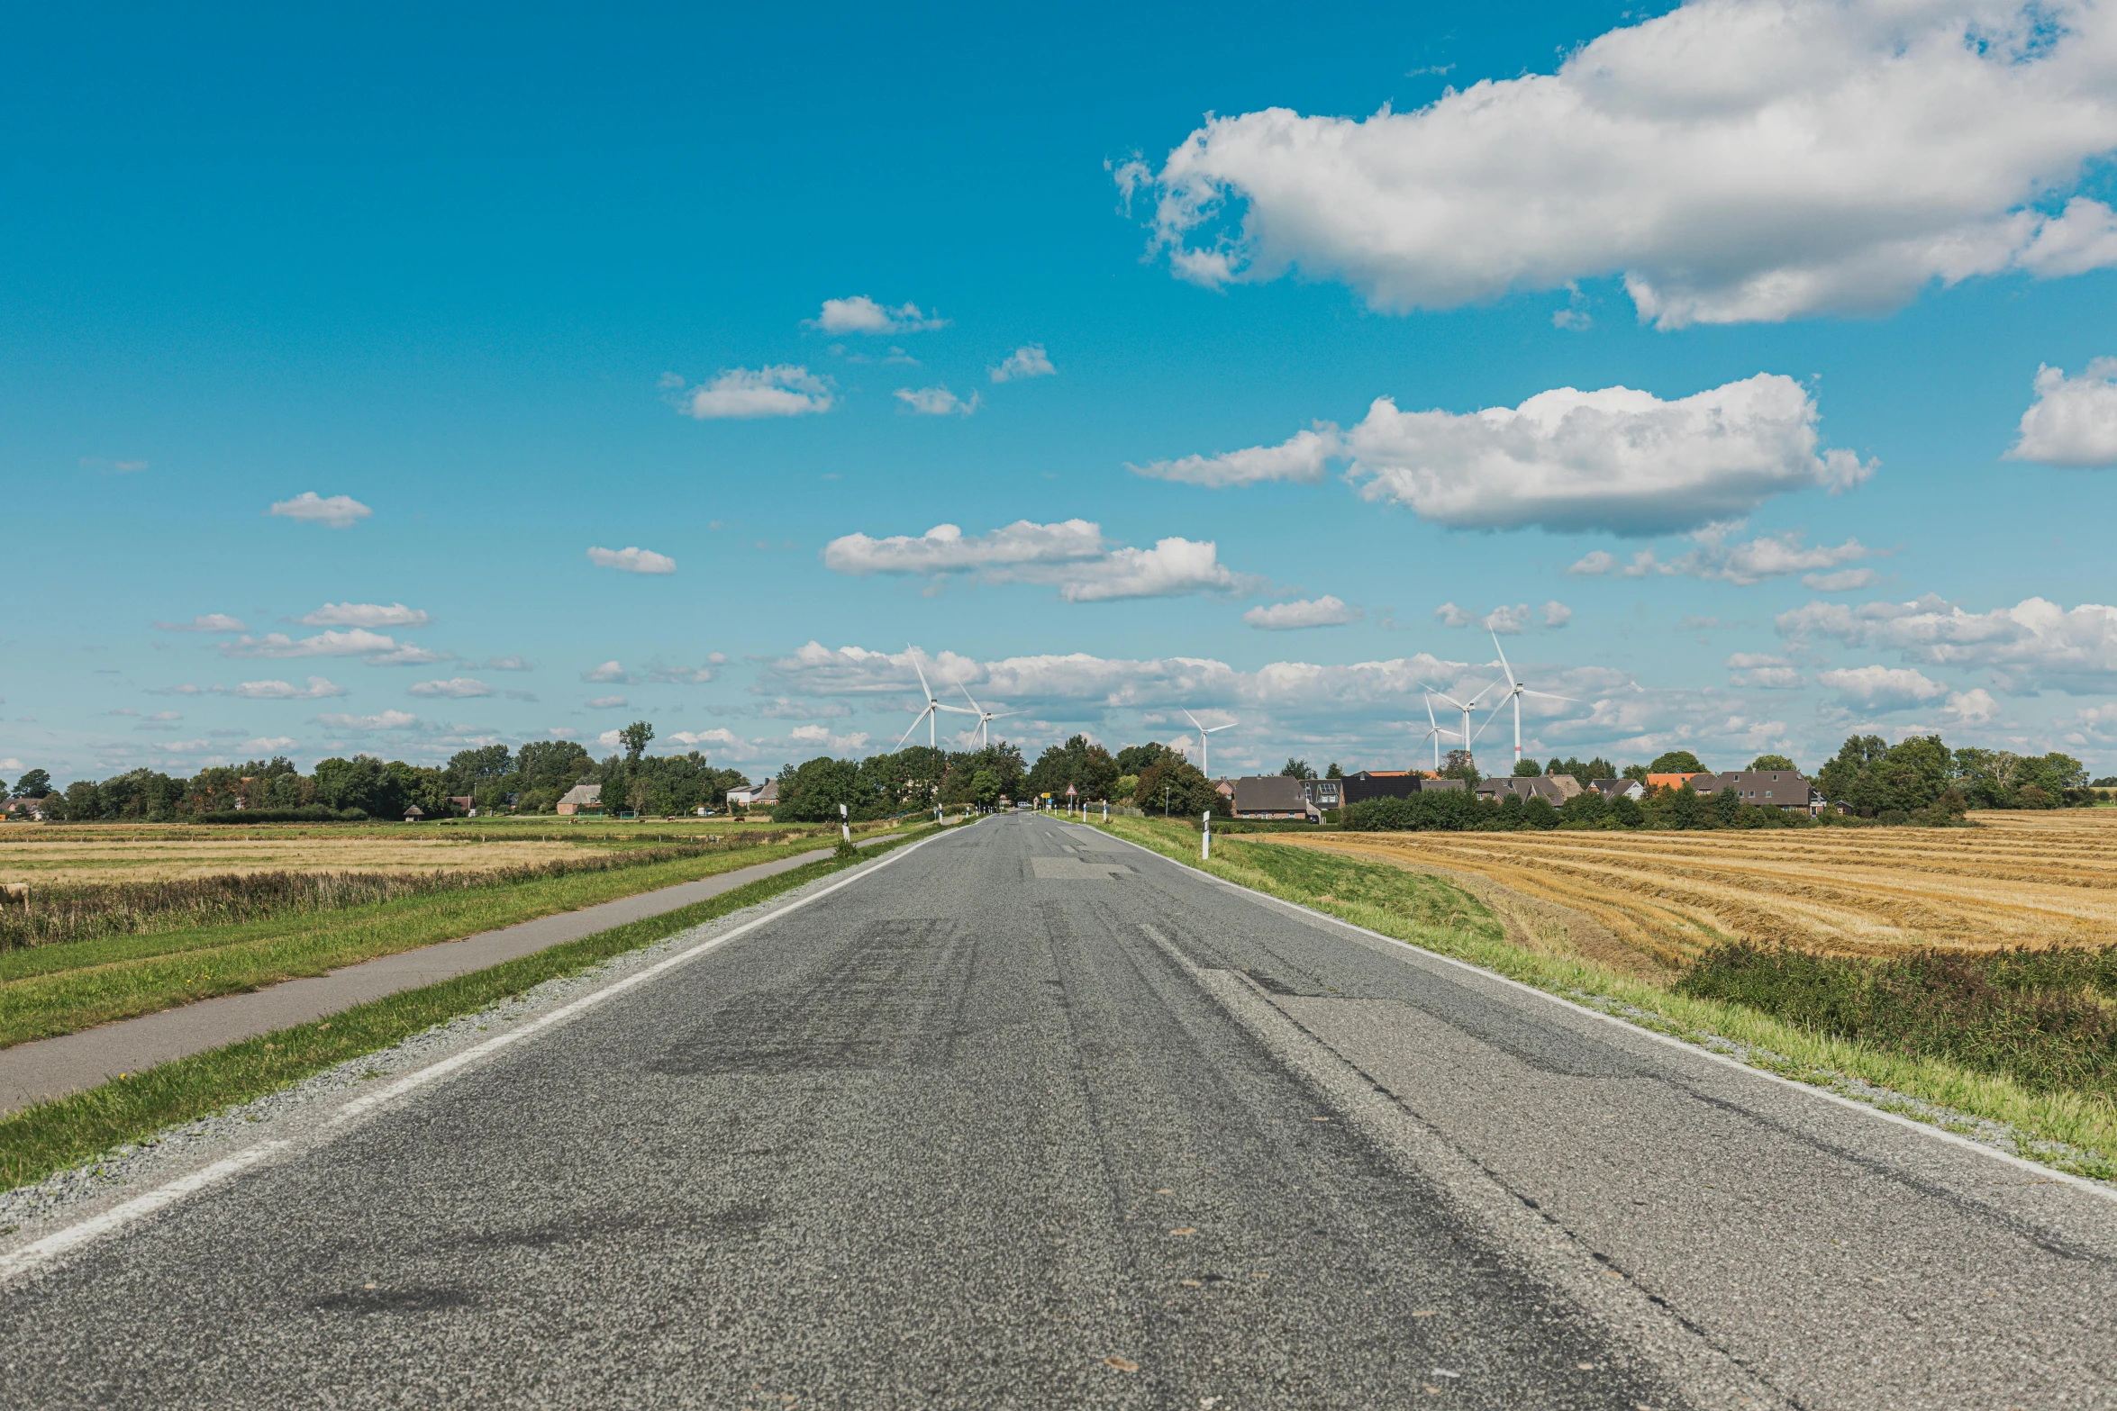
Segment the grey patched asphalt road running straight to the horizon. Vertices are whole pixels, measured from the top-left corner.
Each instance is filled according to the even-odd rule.
[[[1014,817],[17,1280],[0,1405],[2100,1407],[2113,1257],[2100,1191]]]

